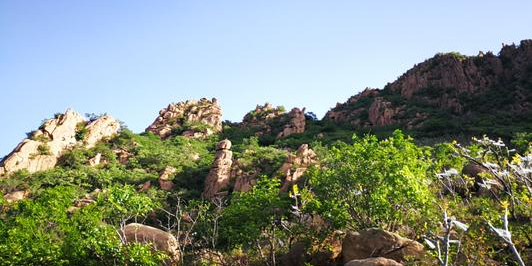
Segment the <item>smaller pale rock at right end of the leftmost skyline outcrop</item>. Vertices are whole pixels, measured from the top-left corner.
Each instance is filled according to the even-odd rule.
[[[87,148],[92,148],[104,138],[110,137],[120,130],[120,123],[110,115],[103,115],[87,124],[87,135],[84,138]]]

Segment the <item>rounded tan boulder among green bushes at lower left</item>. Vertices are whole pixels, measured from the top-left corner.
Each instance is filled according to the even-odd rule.
[[[173,260],[176,261],[179,258],[179,242],[170,233],[138,223],[124,226],[121,233],[127,244],[149,243],[154,249],[166,252]]]

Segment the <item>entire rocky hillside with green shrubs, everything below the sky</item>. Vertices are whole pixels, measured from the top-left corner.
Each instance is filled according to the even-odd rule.
[[[532,265],[531,96],[523,41],[438,54],[322,120],[222,122],[203,98],[137,134],[67,110],[0,161],[0,266]]]

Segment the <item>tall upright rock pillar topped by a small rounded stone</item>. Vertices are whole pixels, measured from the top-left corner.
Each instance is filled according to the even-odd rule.
[[[207,199],[215,198],[229,185],[233,152],[231,141],[222,140],[216,145],[216,155],[211,170],[205,179],[205,189],[202,196]]]

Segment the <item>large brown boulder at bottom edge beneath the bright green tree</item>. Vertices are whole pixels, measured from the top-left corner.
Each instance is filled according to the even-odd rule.
[[[344,262],[370,257],[384,257],[404,262],[407,257],[421,259],[423,245],[378,228],[348,232],[342,244]]]

